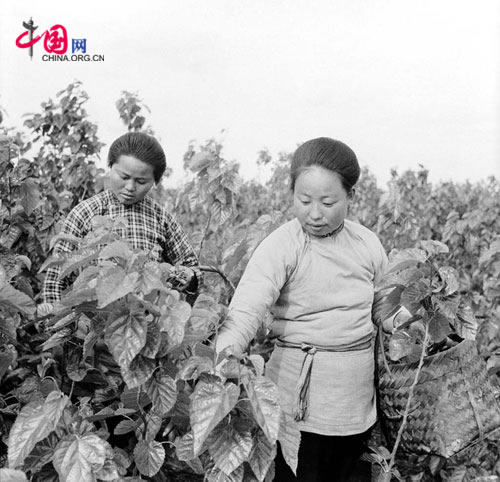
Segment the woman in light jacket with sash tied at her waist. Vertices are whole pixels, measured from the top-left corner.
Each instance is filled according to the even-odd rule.
[[[218,351],[242,352],[272,312],[266,376],[301,431],[297,477],[278,450],[275,481],[349,480],[376,420],[372,305],[387,256],[372,231],[346,219],[359,174],[340,141],[297,149],[296,217],[253,254],[218,335]]]

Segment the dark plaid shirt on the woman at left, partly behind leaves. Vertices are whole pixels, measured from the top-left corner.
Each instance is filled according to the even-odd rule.
[[[120,203],[112,191],[103,191],[82,201],[71,210],[64,221],[61,234],[83,238],[91,230],[92,218],[99,215],[113,219],[124,217],[128,226],[121,234],[135,249],[152,250],[159,246],[161,258],[158,261],[189,266],[196,273],[197,281],[201,281],[201,271],[196,268],[198,258],[186,233],[173,216],[156,201],[145,197],[135,204],[125,205]],[[69,252],[73,249],[73,244],[59,240],[54,246],[54,253]],[[61,299],[68,279],[58,280],[59,273],[59,266],[47,269],[42,288],[44,303],[54,303]]]

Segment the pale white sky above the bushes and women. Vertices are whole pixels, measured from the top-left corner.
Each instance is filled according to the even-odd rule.
[[[29,17],[105,61],[43,62],[43,40],[30,61],[15,46]],[[349,144],[381,182],[419,163],[432,180],[500,176],[497,0],[3,0],[5,124],[75,79],[108,146],[124,132],[120,92],[139,94],[172,182],[189,140],[209,137],[245,177],[262,148],[318,136]]]

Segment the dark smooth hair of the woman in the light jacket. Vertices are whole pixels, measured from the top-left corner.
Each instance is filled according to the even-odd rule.
[[[336,172],[347,193],[351,192],[359,179],[360,168],[354,151],[343,142],[329,137],[311,139],[297,148],[290,169],[292,190],[295,189],[299,174],[310,166],[320,166]]]

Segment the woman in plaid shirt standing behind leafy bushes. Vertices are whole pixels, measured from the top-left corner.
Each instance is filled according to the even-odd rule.
[[[147,197],[153,184],[160,182],[166,168],[160,143],[142,132],[129,132],[116,139],[109,149],[109,189],[78,204],[68,214],[61,234],[83,238],[95,216],[124,217],[128,221],[125,238],[136,249],[159,247],[158,261],[180,265],[183,282],[179,289],[194,292],[201,279],[198,258],[177,221],[157,202]],[[54,253],[69,252],[73,245],[60,240]],[[52,311],[61,299],[68,280],[58,280],[60,267],[47,270],[42,288],[41,314]]]

